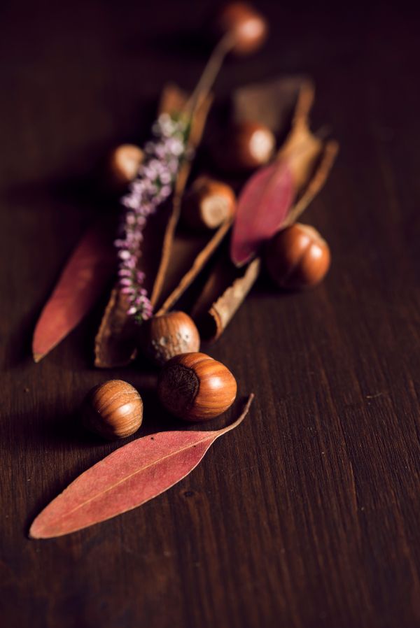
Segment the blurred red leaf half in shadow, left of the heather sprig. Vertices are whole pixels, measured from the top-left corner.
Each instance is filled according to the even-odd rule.
[[[111,234],[96,225],[78,243],[38,319],[32,353],[39,362],[90,311],[116,269]]]

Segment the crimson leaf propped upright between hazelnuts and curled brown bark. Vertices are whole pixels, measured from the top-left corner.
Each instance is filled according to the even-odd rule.
[[[274,236],[295,199],[293,176],[286,161],[260,168],[239,195],[230,242],[230,258],[243,266]]]

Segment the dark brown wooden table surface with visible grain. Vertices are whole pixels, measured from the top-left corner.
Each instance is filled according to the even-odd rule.
[[[27,538],[41,508],[118,446],[79,428],[92,385],[129,380],[144,394],[144,429],[169,427],[152,373],[93,369],[104,301],[40,364],[30,340],[66,257],[101,211],[87,174],[112,145],[146,136],[167,79],[193,87],[204,63],[194,40],[211,6],[1,8],[8,628],[420,626],[420,16],[396,4],[261,2],[269,42],[218,80],[223,97],[308,73],[314,128],[328,123],[341,145],[305,217],[330,242],[328,278],[304,294],[255,287],[211,348],[240,397],[255,392],[246,421],[141,508],[56,540]]]

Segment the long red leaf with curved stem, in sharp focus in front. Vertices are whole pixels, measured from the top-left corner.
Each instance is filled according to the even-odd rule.
[[[216,438],[237,427],[244,412],[217,431],[161,431],[121,447],[82,473],[34,520],[32,538],[62,536],[153,499],[185,478]]]

